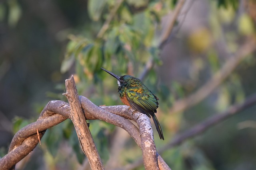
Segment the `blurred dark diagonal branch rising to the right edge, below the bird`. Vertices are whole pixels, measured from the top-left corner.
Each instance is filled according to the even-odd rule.
[[[236,104],[233,106],[230,106],[226,111],[222,113],[215,113],[214,116],[206,119],[205,121],[201,122],[198,125],[195,125],[194,127],[190,128],[189,130],[185,131],[181,135],[177,135],[174,137],[174,139],[165,145],[164,147],[159,149],[159,152],[162,153],[168,149],[171,149],[177,145],[180,145],[182,142],[195,137],[197,135],[200,135],[204,131],[210,129],[214,125],[221,123],[222,121],[228,119],[229,117],[232,117],[233,115],[240,113],[241,111],[248,109],[249,107],[256,105],[256,94],[251,96],[250,98],[246,99],[242,104]],[[137,168],[143,163],[142,159],[137,160],[136,162],[126,165],[124,170],[132,170]]]

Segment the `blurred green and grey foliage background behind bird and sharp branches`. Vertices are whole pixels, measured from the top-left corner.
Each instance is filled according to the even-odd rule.
[[[1,1],[0,156],[50,100],[67,101],[62,93],[71,74],[78,93],[94,104],[122,104],[116,80],[103,67],[141,78],[160,99],[156,116],[165,140],[155,127],[154,136],[158,150],[168,148],[160,154],[170,168],[255,170],[255,106],[167,147],[176,135],[255,94],[255,9],[255,0]],[[218,72],[225,77],[212,80]],[[124,130],[97,120],[90,130],[106,169],[141,158]],[[41,143],[17,169],[90,169],[70,120],[48,129]]]

